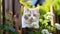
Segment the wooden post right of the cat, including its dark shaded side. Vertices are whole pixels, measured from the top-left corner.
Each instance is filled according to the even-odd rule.
[[[51,19],[51,25],[54,26],[55,23],[59,23],[58,15],[54,11],[54,7],[52,5],[50,6],[50,11],[54,14],[54,16],[52,16],[52,19]],[[56,29],[56,33],[55,34],[60,34],[60,30]]]

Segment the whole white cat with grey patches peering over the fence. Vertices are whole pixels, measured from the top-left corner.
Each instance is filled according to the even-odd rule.
[[[22,28],[39,28],[39,8],[24,7]]]

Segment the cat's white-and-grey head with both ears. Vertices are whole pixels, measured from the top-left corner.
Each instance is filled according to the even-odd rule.
[[[27,8],[24,7],[24,18],[28,22],[35,22],[39,19],[39,7]]]

